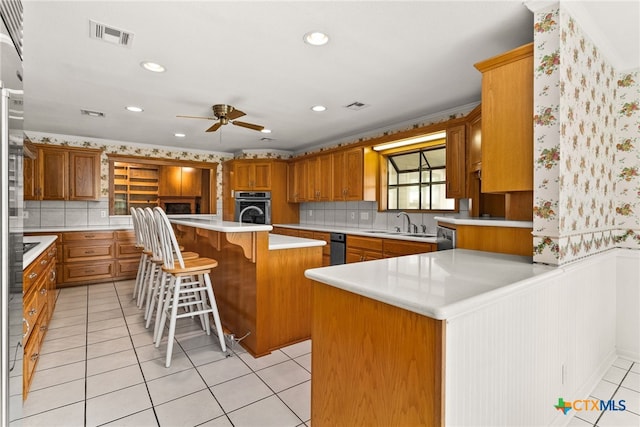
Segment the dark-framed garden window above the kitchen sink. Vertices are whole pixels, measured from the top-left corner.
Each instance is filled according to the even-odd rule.
[[[387,157],[387,209],[455,210],[446,198],[446,147],[437,145]]]

